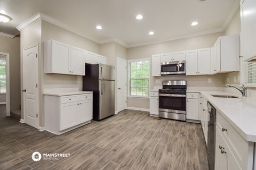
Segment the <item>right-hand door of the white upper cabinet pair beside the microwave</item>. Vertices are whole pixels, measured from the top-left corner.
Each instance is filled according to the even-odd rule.
[[[210,48],[198,49],[197,52],[197,72],[198,75],[210,74]]]

